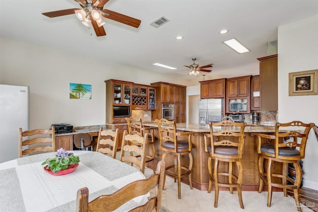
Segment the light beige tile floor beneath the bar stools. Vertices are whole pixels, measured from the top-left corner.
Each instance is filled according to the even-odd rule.
[[[145,175],[150,176],[152,169],[146,167]],[[165,187],[162,195],[162,206],[171,212],[297,212],[294,199],[290,196],[284,197],[282,192],[273,192],[272,204],[268,208],[267,192],[242,192],[245,209],[239,207],[238,193],[233,195],[229,191],[220,191],[218,208],[214,208],[214,191],[193,190],[181,183],[181,199],[178,199],[177,183],[166,177]],[[303,212],[312,211],[302,205]]]

